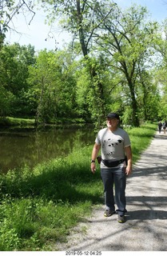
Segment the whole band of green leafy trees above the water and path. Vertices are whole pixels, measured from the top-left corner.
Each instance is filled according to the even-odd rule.
[[[17,2],[10,5],[8,18]],[[63,29],[76,40],[64,50],[37,54],[33,46],[0,48],[1,116],[35,117],[37,124],[82,118],[95,126],[109,111],[133,126],[165,116],[158,86],[163,80],[165,90],[166,42],[157,22],[146,19],[145,7],[121,10],[95,0],[46,1],[42,7],[50,24],[60,14]],[[157,68],[164,75],[155,82]]]

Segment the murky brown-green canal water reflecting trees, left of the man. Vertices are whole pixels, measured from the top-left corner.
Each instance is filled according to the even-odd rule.
[[[0,131],[0,171],[33,167],[69,154],[77,146],[93,145],[93,130]]]

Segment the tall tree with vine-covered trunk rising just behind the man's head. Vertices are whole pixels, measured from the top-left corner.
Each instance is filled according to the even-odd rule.
[[[94,122],[98,120],[98,125],[103,122],[106,114],[103,94],[104,86],[99,79],[97,62],[95,58],[91,58],[90,50],[93,44],[93,35],[101,22],[104,21],[103,19],[99,25],[94,25],[97,8],[101,5],[103,4],[97,2],[97,0],[58,0],[55,3],[47,0],[42,2],[42,7],[49,12],[49,21],[54,22],[58,16],[62,16],[64,18],[62,21],[63,28],[69,31],[74,39],[77,39],[80,43],[82,55],[85,58],[85,66],[91,80],[90,89],[93,90],[92,118]],[[112,8],[109,12],[111,11]]]

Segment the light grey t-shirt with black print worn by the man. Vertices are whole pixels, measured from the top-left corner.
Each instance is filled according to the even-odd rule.
[[[101,145],[101,158],[105,160],[121,160],[125,158],[125,147],[130,146],[129,134],[121,128],[113,132],[108,128],[99,130],[95,142]],[[101,168],[105,165],[101,162]]]

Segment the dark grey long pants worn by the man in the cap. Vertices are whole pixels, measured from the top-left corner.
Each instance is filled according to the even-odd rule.
[[[106,209],[115,210],[115,202],[117,204],[117,214],[123,215],[127,211],[125,209],[125,186],[126,174],[125,167],[121,168],[101,168],[101,178],[105,192],[105,206]],[[115,190],[115,200],[113,194],[113,186]]]

